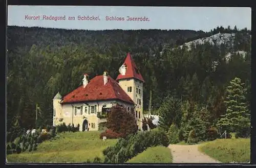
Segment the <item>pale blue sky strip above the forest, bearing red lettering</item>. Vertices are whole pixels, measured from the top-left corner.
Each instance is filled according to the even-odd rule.
[[[28,16],[39,16],[39,20],[30,20]],[[65,16],[65,20],[50,20],[49,16]],[[69,16],[75,20],[68,20]],[[78,16],[94,16],[98,20],[78,20]],[[106,20],[106,16],[124,20]],[[148,20],[126,20],[127,16]],[[8,6],[7,17],[8,26],[60,29],[210,31],[217,26],[236,25],[238,29],[251,30],[251,8],[242,7]]]

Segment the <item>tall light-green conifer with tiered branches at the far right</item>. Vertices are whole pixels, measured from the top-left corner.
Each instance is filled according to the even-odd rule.
[[[245,103],[245,89],[244,83],[241,79],[234,78],[230,81],[227,87],[227,97],[225,100],[227,110],[224,115],[221,115],[217,126],[222,131],[237,132],[241,135],[243,131],[250,127],[250,114]],[[247,133],[247,132],[244,132]]]

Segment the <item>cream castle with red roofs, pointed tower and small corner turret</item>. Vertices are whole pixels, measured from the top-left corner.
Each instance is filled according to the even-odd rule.
[[[58,92],[53,98],[53,126],[65,123],[79,126],[80,131],[98,130],[106,122],[106,113],[116,104],[128,111],[134,110],[138,129],[142,128],[143,77],[130,53],[119,68],[116,80],[106,71],[89,80],[84,74],[82,85],[62,98]]]

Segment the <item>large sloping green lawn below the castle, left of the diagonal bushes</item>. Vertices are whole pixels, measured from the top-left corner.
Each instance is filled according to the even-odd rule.
[[[40,143],[36,151],[7,155],[8,162],[72,162],[91,161],[97,156],[104,159],[103,149],[113,146],[117,139],[102,140],[99,131],[66,132],[60,137]]]

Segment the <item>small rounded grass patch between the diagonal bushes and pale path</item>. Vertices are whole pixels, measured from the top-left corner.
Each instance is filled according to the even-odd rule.
[[[163,146],[151,147],[126,163],[172,163],[172,154],[169,148]]]

